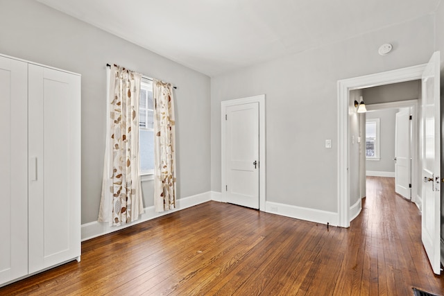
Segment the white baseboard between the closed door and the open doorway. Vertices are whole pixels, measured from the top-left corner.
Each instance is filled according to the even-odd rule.
[[[265,202],[265,211],[271,214],[307,220],[314,223],[329,223],[332,226],[339,225],[339,215],[332,211],[296,207],[289,204],[280,204],[278,202]]]

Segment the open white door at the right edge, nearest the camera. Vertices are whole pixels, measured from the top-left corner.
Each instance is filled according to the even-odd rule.
[[[422,73],[422,243],[436,275],[441,272],[439,99],[439,51],[436,51]]]

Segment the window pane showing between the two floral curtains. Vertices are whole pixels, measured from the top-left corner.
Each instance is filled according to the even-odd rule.
[[[154,174],[153,81],[142,78],[139,99],[140,174]]]

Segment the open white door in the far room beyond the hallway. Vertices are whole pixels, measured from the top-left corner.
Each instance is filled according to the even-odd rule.
[[[410,111],[403,109],[395,119],[395,191],[411,199]]]

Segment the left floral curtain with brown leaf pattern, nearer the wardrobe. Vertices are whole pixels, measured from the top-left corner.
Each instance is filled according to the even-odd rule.
[[[108,126],[98,220],[119,226],[137,220],[144,212],[138,112],[142,75],[114,64],[108,78]]]

